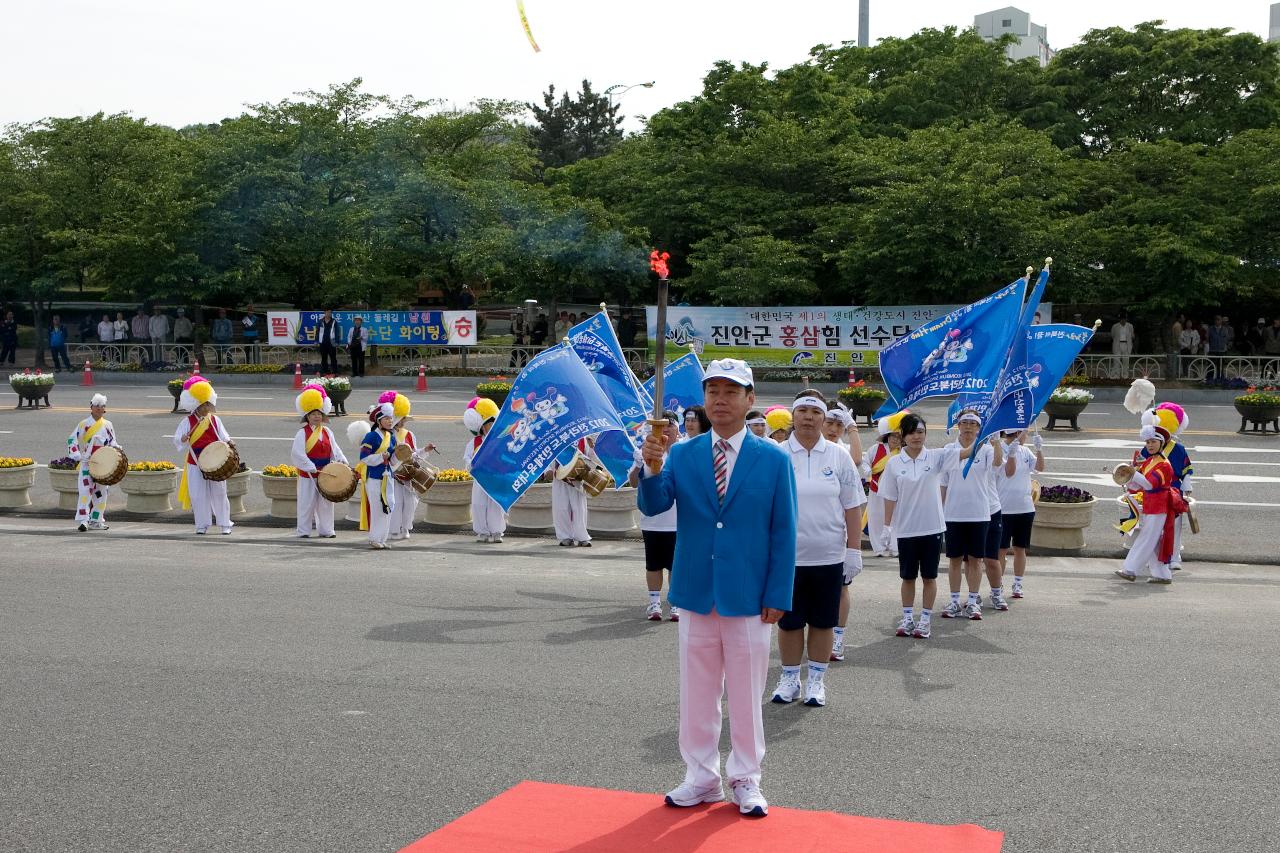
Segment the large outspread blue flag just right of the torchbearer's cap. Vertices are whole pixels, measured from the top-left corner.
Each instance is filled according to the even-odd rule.
[[[1020,278],[888,345],[881,352],[888,398],[876,416],[927,397],[969,393],[991,398],[1009,364],[1025,295],[1027,279]]]

